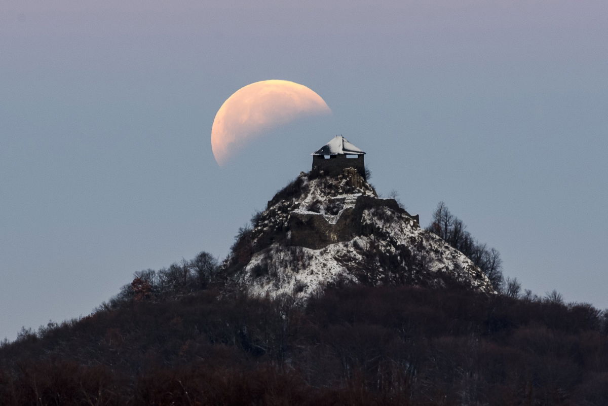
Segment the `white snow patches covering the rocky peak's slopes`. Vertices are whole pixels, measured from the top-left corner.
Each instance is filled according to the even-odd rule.
[[[286,227],[291,213],[323,216],[326,221],[336,224],[344,210],[354,207],[359,196],[377,198],[367,182],[364,181],[362,187],[353,187],[348,182],[347,176],[336,178],[328,188],[327,179],[306,179],[305,193],[269,207],[264,212],[264,221],[254,232],[263,233],[264,230]],[[410,272],[413,280],[424,279],[427,284],[436,282],[437,286],[441,286],[442,278],[449,277],[472,289],[494,292],[488,278],[463,253],[449,246],[439,236],[420,229],[408,215],[382,205],[384,199],[377,199],[379,205],[364,210],[361,218],[362,225],[371,230],[368,235],[330,244],[319,250],[271,244],[254,253],[238,282],[250,295],[275,298],[288,294],[305,300],[339,279],[357,283],[358,276],[353,269],[361,271],[370,267],[375,269],[376,274],[390,274],[391,270],[382,269],[378,260],[370,263],[370,258],[373,258],[369,255],[370,247],[374,247],[376,253],[399,258],[406,269],[404,272]],[[315,202],[319,212],[310,210]],[[335,215],[325,211],[331,202],[342,204]],[[420,266],[411,266],[411,261],[406,263],[402,258],[404,252]],[[364,261],[367,261],[365,265]],[[382,283],[380,278],[370,278],[371,283]],[[367,278],[368,283],[370,278]]]

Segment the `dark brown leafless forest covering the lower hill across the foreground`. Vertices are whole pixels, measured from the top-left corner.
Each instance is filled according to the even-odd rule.
[[[606,405],[608,317],[455,289],[289,297],[203,289],[21,334],[0,399],[22,405]]]

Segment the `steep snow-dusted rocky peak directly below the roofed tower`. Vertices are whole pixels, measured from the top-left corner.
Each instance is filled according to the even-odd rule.
[[[225,266],[232,265],[233,280],[250,295],[304,300],[342,283],[459,284],[493,292],[471,260],[421,229],[418,216],[394,199],[378,198],[353,168],[337,176],[301,173],[245,237]]]

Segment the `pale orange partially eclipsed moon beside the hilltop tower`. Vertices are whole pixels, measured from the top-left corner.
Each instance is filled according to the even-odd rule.
[[[238,89],[219,108],[211,148],[219,166],[265,131],[306,115],[330,114],[316,92],[289,80],[262,80]]]

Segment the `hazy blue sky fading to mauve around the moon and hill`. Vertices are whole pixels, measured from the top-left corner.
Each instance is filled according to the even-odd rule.
[[[238,227],[344,134],[427,224],[445,201],[538,294],[608,307],[608,2],[0,6],[0,339],[86,315]],[[225,168],[219,106],[264,79],[333,115]]]

